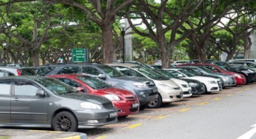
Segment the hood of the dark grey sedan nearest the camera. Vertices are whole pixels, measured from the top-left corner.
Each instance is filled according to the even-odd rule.
[[[84,92],[70,93],[70,94],[59,95],[59,96],[64,97],[64,98],[76,99],[79,101],[87,101],[87,102],[91,102],[93,104],[109,104],[109,103],[111,103],[111,101],[107,98],[97,96],[97,95],[85,94]]]

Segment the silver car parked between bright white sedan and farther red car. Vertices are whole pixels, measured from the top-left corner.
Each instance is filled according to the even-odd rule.
[[[227,75],[227,74],[223,74],[223,73],[215,73],[205,67],[182,66],[179,68],[187,69],[187,70],[189,70],[189,73],[192,73],[193,75],[218,78],[221,81],[222,87],[232,87],[232,86],[236,85],[235,77],[233,75]]]

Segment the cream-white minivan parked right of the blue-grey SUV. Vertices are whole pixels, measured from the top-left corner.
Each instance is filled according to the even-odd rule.
[[[158,87],[158,98],[150,101],[149,108],[158,108],[162,104],[169,104],[174,101],[181,101],[183,98],[183,90],[174,81],[164,75],[154,72],[152,69],[141,67],[135,64],[108,64],[115,67],[125,75],[135,77],[149,78],[154,81]],[[183,84],[188,87],[188,84]]]

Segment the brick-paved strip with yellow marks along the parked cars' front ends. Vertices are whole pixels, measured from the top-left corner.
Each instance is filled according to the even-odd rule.
[[[145,121],[152,119],[162,119],[178,112],[186,112],[193,106],[202,106],[209,103],[218,103],[220,99],[232,97],[232,95],[256,88],[256,83],[237,87],[227,87],[220,92],[212,92],[205,95],[193,95],[190,98],[184,98],[182,101],[165,104],[158,109],[144,109],[137,115],[129,115],[127,118],[121,118],[118,123],[102,126],[98,129],[82,129],[78,132],[84,132],[88,138],[103,139],[108,135],[115,134],[120,130],[129,130],[141,126]]]

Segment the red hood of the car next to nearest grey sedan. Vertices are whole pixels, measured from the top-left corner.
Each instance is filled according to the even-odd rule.
[[[134,96],[132,92],[129,92],[126,89],[118,89],[118,88],[115,88],[115,87],[100,89],[98,91],[105,92],[107,94],[122,95],[124,97]]]

